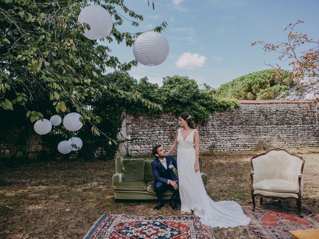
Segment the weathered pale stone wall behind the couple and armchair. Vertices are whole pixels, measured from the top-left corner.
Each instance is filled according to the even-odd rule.
[[[240,101],[240,104],[234,112],[216,112],[205,125],[198,126],[200,151],[319,147],[317,111],[309,101]],[[122,134],[131,141],[122,144],[120,150],[138,156],[151,154],[156,144],[168,149],[177,128],[177,118],[169,114],[127,115]]]

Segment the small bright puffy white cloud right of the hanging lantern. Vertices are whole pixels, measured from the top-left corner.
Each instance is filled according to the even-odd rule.
[[[184,52],[176,61],[178,68],[192,69],[200,68],[205,64],[206,57],[200,56],[197,53]]]

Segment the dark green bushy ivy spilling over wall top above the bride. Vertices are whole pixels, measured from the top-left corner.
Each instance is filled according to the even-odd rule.
[[[196,122],[204,122],[215,111],[232,110],[238,106],[234,101],[216,99],[214,90],[208,85],[204,84],[203,89],[199,89],[196,81],[186,76],[165,77],[161,87],[144,78],[137,89],[143,89],[142,95],[146,99],[160,104],[163,112],[178,116],[186,111]]]

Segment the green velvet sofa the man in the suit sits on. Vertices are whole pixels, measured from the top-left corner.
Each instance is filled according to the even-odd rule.
[[[116,157],[116,173],[112,177],[115,199],[157,199],[153,190],[154,176],[151,162],[154,158],[123,158]],[[178,172],[174,168],[178,177]],[[202,158],[199,156],[199,171],[205,188],[207,174],[202,173]],[[163,199],[170,199],[172,191],[165,191]]]

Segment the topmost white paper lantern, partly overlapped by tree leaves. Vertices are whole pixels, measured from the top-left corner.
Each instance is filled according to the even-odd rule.
[[[90,40],[98,40],[110,35],[113,28],[112,17],[110,13],[98,5],[84,7],[79,16],[78,22],[90,25],[90,30],[85,28],[84,36]]]

